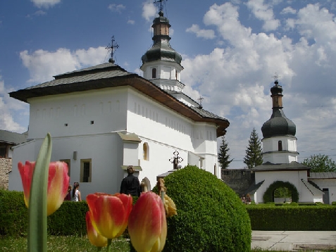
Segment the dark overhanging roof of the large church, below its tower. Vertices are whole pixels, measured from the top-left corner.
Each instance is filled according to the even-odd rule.
[[[139,92],[142,92],[195,122],[212,122],[216,124],[218,126],[217,137],[223,136],[225,129],[230,125],[227,119],[220,118],[218,115],[200,108],[187,106],[149,80],[135,73],[128,73],[113,63],[104,63],[62,75],[56,75],[55,80],[44,82],[33,87],[27,87],[26,89],[20,89],[9,93],[9,95],[20,101],[28,102],[29,99],[40,96],[126,86],[137,89]]]

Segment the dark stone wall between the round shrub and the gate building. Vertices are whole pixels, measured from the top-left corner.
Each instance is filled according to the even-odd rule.
[[[248,169],[222,169],[221,177],[225,184],[228,184],[239,196],[255,181],[254,172]]]

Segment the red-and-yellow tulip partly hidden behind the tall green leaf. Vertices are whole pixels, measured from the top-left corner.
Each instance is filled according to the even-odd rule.
[[[25,205],[29,208],[30,186],[32,174],[35,170],[35,162],[26,161],[25,165],[18,163],[18,170],[23,184]],[[63,203],[68,193],[70,177],[68,176],[68,165],[64,162],[49,163],[48,189],[47,189],[47,215],[54,213]]]

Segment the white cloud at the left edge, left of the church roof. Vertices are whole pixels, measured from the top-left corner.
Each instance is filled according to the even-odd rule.
[[[23,113],[27,113],[28,106],[21,101],[10,98],[8,92],[11,91],[13,90],[6,89],[4,80],[0,75],[0,129],[11,132],[25,132],[27,128],[15,122],[13,115],[21,116]]]

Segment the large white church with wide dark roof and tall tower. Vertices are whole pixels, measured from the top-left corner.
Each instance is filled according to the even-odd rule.
[[[220,178],[217,138],[229,122],[183,93],[182,57],[170,46],[162,11],[152,27],[153,46],[142,56],[144,77],[111,58],[10,93],[30,104],[30,122],[27,141],[13,149],[9,190],[23,190],[17,163],[36,160],[47,132],[51,160],[68,163],[70,183],[80,183],[82,199],[118,192],[128,165],[151,190],[158,175],[173,169],[175,151],[182,168],[197,165]]]

